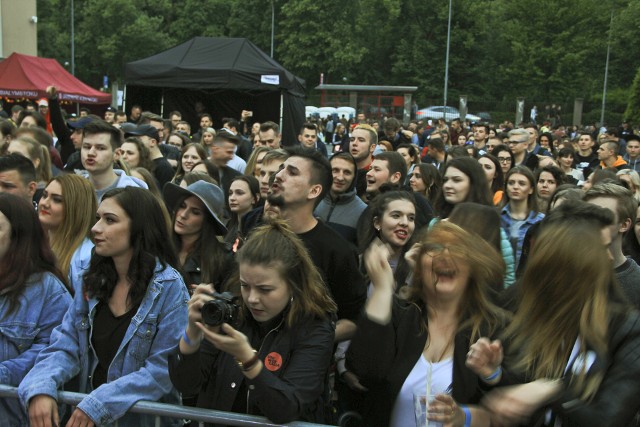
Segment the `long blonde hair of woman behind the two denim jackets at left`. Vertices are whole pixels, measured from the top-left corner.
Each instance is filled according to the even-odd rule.
[[[62,187],[64,219],[50,234],[50,244],[60,271],[67,277],[74,252],[91,235],[98,202],[93,185],[86,178],[68,174],[57,176],[51,181],[58,182]]]

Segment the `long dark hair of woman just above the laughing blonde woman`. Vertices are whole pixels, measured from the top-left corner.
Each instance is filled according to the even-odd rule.
[[[466,148],[466,146],[465,146]],[[467,177],[469,177],[469,193],[467,198],[463,202],[479,203],[485,206],[493,206],[492,195],[489,192],[489,185],[487,184],[487,176],[482,170],[480,163],[471,157],[459,157],[451,160],[447,163],[442,171],[442,176],[447,172],[449,168],[456,168]],[[444,182],[443,182],[444,186]],[[444,198],[444,191],[441,188],[438,198],[436,199],[436,213],[440,218],[448,218],[449,214],[453,210],[454,205],[447,202]]]

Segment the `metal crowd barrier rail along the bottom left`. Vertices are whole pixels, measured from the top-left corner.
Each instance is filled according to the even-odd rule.
[[[69,391],[58,392],[58,403],[66,403],[75,406],[86,394],[72,393]],[[18,389],[7,385],[0,385],[0,397],[18,398]],[[138,414],[155,415],[156,426],[160,426],[162,418],[176,418],[197,421],[200,427],[204,423],[223,424],[228,426],[264,426],[276,427],[282,424],[274,424],[265,417],[254,415],[236,414],[233,412],[214,411],[212,409],[192,408],[189,406],[169,405],[166,403],[140,401],[133,405],[129,412]],[[313,424],[302,421],[294,421],[286,424],[290,427],[328,427],[324,424]]]

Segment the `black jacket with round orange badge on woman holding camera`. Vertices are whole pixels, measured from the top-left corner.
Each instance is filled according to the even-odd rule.
[[[169,357],[171,381],[185,395],[199,393],[200,408],[264,415],[278,424],[323,423],[335,324],[307,318],[289,328],[282,317],[265,323],[251,318],[238,328],[263,363],[254,379],[243,375],[231,355],[204,341],[192,355],[176,350]]]

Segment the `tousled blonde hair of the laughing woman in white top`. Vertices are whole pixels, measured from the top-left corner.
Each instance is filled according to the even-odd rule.
[[[469,267],[469,282],[458,308],[458,331],[469,329],[470,343],[473,343],[483,334],[491,335],[504,325],[507,312],[493,304],[490,298],[496,283],[502,283],[505,271],[504,260],[494,247],[449,221],[434,225],[420,243],[409,296],[411,302],[428,307],[423,280],[430,272],[423,271],[421,260],[433,245],[439,245],[448,250],[454,264],[466,263]]]

